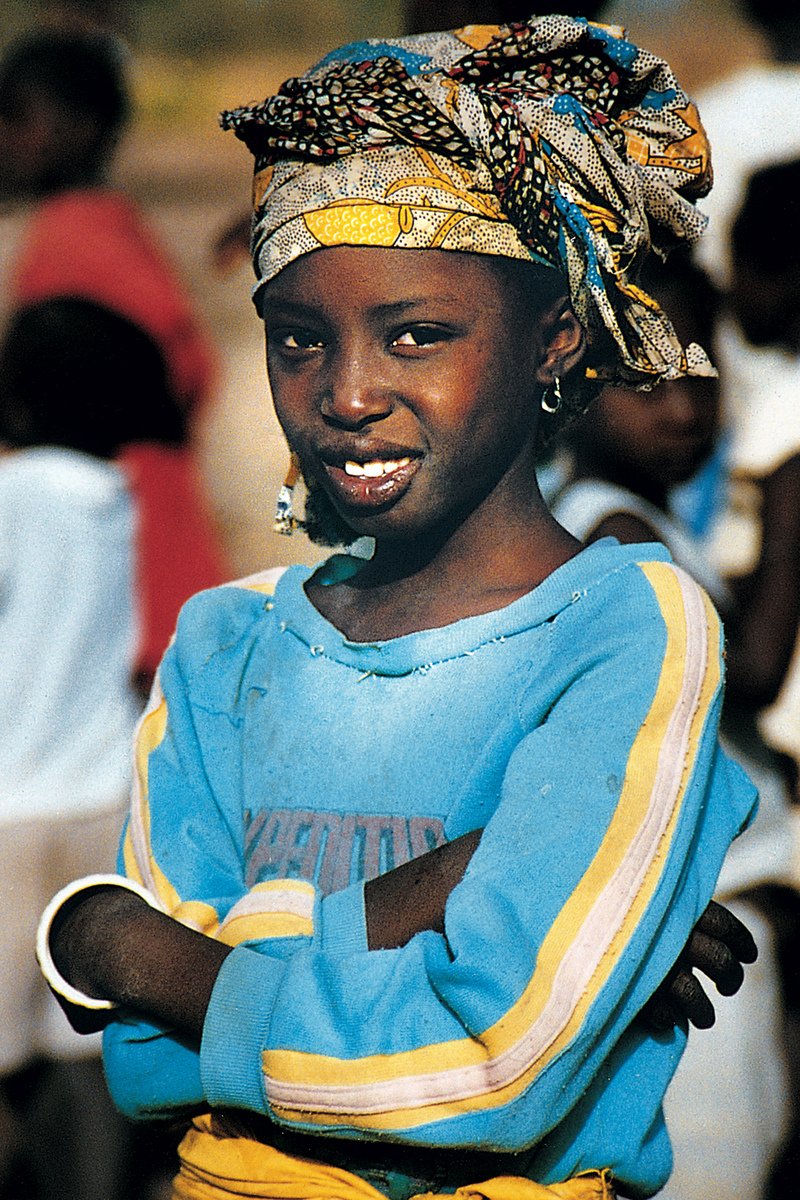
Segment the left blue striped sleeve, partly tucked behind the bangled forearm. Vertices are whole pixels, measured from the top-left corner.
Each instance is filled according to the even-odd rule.
[[[365,944],[359,888],[329,904],[302,880],[248,887],[245,878],[243,680],[278,575],[267,571],[185,606],[137,728],[119,865],[176,920],[228,946],[269,942],[275,953],[281,940],[321,943],[323,926],[332,943]],[[342,930],[343,922],[355,929]]]

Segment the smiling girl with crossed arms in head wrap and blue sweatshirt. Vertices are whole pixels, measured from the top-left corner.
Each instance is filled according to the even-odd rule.
[[[40,953],[112,1008],[118,1103],[199,1114],[176,1196],[649,1195],[685,1036],[637,1016],[754,793],[710,604],[584,550],[535,457],[600,377],[710,370],[633,282],[699,234],[697,115],[552,17],[349,47],[224,120],[306,521],[374,553],[187,606],[127,881]]]

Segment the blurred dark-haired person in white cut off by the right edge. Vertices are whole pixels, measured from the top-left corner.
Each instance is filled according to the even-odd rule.
[[[730,686],[800,758],[800,160],[757,172],[730,236],[717,340],[729,426],[714,551],[738,596]]]

